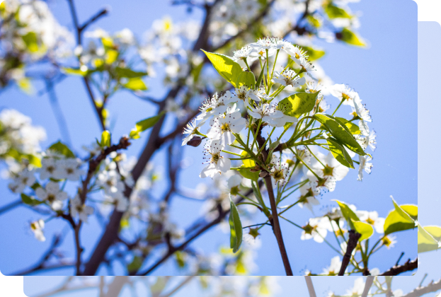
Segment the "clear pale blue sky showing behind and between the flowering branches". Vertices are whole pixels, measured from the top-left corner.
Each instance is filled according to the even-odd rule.
[[[110,5],[110,16],[102,18],[93,28],[104,28],[115,32],[122,28],[130,28],[138,37],[148,30],[156,18],[168,15],[173,21],[185,21],[188,18],[201,18],[197,10],[193,14],[185,13],[183,6],[169,6],[169,1],[76,1],[80,21],[85,21],[95,11],[105,5]],[[63,25],[71,28],[71,18],[65,1],[50,1],[50,7]],[[440,48],[441,28],[437,23],[417,22],[418,6],[414,1],[360,1],[351,4],[353,11],[361,11],[360,35],[370,42],[370,48],[360,49],[341,43],[328,44],[317,41],[326,49],[326,56],[319,62],[326,74],[336,83],[347,83],[360,94],[363,103],[367,104],[371,112],[377,136],[377,150],[374,152],[374,167],[372,174],[365,176],[363,182],[357,182],[356,170],[350,171],[348,176],[338,182],[336,190],[323,195],[321,206],[335,206],[331,199],[350,202],[357,209],[376,210],[380,216],[385,217],[393,209],[389,195],[393,195],[399,204],[417,204],[420,206],[419,221],[423,225],[440,225],[440,202],[437,185],[439,185],[438,168],[441,166],[437,158],[436,148],[440,146],[440,138],[433,128],[435,120],[439,117],[436,112],[440,110],[439,74],[441,59],[437,57]],[[417,63],[417,69],[415,64]],[[150,95],[161,98],[166,89],[159,88],[154,79],[147,78]],[[155,86],[156,85],[156,86]],[[38,85],[37,85],[38,87]],[[37,88],[38,89],[38,88]],[[57,88],[60,105],[69,126],[72,143],[76,150],[84,144],[90,144],[100,134],[96,117],[93,114],[84,86],[79,78],[71,77],[60,83]],[[418,100],[417,100],[418,98]],[[338,104],[335,98],[328,98],[328,103],[333,107]],[[0,95],[0,107],[9,107],[19,110],[33,119],[33,124],[45,127],[47,146],[60,138],[55,117],[50,109],[46,95],[41,97],[28,97],[20,91],[10,88]],[[417,112],[418,110],[418,112]],[[345,112],[349,110],[345,110]],[[113,135],[116,137],[127,134],[134,122],[153,115],[151,106],[144,103],[129,93],[120,92],[110,102],[111,115],[117,117]],[[345,115],[343,113],[343,115]],[[168,120],[171,123],[171,120]],[[171,125],[168,125],[171,128]],[[436,127],[436,126],[435,126]],[[137,156],[147,137],[134,141],[133,146],[127,151],[128,155]],[[418,142],[417,142],[418,140]],[[159,153],[154,158],[156,166],[164,166],[164,156]],[[202,169],[199,151],[185,148],[184,158],[193,164],[181,175],[181,185],[195,187],[201,182],[197,175]],[[17,199],[16,195],[6,190],[7,181],[0,180],[2,197],[0,205],[7,204]],[[158,195],[164,191],[166,185],[157,187]],[[160,197],[160,196],[158,196]],[[419,198],[417,201],[417,197]],[[171,217],[173,221],[188,226],[200,214],[200,202],[193,202],[178,197],[173,199]],[[321,208],[315,214],[321,214]],[[183,215],[185,214],[185,216]],[[438,214],[438,215],[437,215]],[[312,214],[294,207],[289,211],[292,221],[303,225]],[[50,240],[40,243],[28,231],[28,223],[39,219],[38,214],[23,207],[9,211],[0,216],[0,223],[4,228],[0,230],[0,270],[4,274],[11,274],[38,260],[42,252],[50,245]],[[260,219],[263,219],[260,218]],[[260,221],[256,221],[258,223]],[[62,230],[64,221],[47,223],[45,234],[48,239],[55,231]],[[323,267],[330,264],[335,252],[324,243],[315,243],[313,240],[299,240],[301,232],[289,224],[282,222],[285,245],[292,264],[294,274],[299,274],[302,269],[308,268],[319,273]],[[277,251],[277,243],[270,228],[263,228],[262,246],[257,250],[256,263],[260,267],[255,275],[282,275],[282,262]],[[85,258],[95,245],[97,234],[101,229],[96,221],[91,221],[88,228],[83,229],[82,242],[86,248]],[[416,231],[395,233],[396,247],[391,250],[380,250],[372,258],[372,267],[384,271],[396,262],[401,252],[406,252],[403,260],[416,257]],[[216,252],[220,245],[228,243],[229,234],[222,233],[218,228],[213,228],[198,240],[193,247],[207,254]],[[374,239],[378,235],[374,234]],[[328,239],[332,240],[330,236]],[[74,256],[73,240],[69,233],[64,241],[63,249],[67,255]],[[411,278],[401,276],[394,281],[394,289],[401,288],[410,291],[417,286],[425,272],[434,279],[440,276],[440,252],[430,252],[420,255],[420,266],[416,276]],[[311,261],[311,259],[314,259]],[[401,261],[403,261],[401,260]],[[307,265],[307,266],[306,266]],[[164,275],[174,272],[173,264],[166,264],[154,274]],[[105,271],[102,271],[105,273]],[[55,274],[71,274],[66,269]],[[47,275],[47,274],[45,274]],[[45,291],[50,286],[57,284],[62,276],[51,279],[42,279],[36,276],[25,278],[25,293],[34,294]],[[345,289],[353,286],[355,277],[339,279],[315,278],[314,286],[318,296],[323,296],[324,291],[333,289],[336,293],[345,293]],[[428,282],[428,279],[425,281]],[[279,281],[282,291],[278,296],[292,296],[292,291],[307,293],[302,277],[281,277]],[[192,289],[193,288],[193,289]],[[186,290],[195,290],[195,284]],[[182,291],[178,296],[187,296],[190,291]],[[125,295],[128,296],[128,291]],[[95,292],[81,293],[81,296],[95,296]],[[80,296],[79,293],[71,296]],[[299,294],[299,296],[303,296]]]

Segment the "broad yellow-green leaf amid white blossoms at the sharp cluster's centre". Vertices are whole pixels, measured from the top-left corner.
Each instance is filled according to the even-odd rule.
[[[290,95],[280,101],[279,110],[284,110],[285,115],[290,115],[292,117],[299,117],[304,113],[310,112],[314,105],[316,104],[317,95],[316,93],[295,93]]]

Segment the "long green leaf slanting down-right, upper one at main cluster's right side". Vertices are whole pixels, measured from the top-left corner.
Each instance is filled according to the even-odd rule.
[[[355,140],[353,134],[350,133],[348,127],[342,124],[340,121],[336,120],[335,117],[331,115],[325,115],[324,113],[316,113],[314,118],[321,122],[326,129],[331,132],[340,143],[344,144],[347,148],[361,156],[365,156],[366,153],[363,151],[362,147]]]

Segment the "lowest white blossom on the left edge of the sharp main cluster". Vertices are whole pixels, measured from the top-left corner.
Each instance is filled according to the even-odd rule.
[[[221,151],[224,148],[219,141],[212,141],[211,144],[205,146],[204,163],[208,163],[207,167],[202,169],[199,177],[205,178],[207,176],[213,177],[217,173],[226,173],[231,167],[229,158],[221,156]]]

